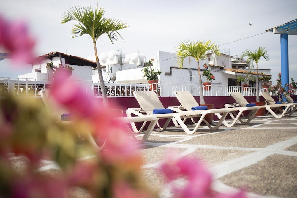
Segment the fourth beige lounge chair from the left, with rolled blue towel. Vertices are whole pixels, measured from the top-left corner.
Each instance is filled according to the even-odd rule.
[[[235,104],[225,104],[225,107],[246,107],[248,102],[244,98],[244,96],[240,92],[231,92],[230,95],[235,99],[236,103]],[[292,104],[271,104],[271,105],[263,105],[263,106],[257,106],[259,108],[266,108],[269,113],[271,113],[275,118],[281,118],[285,112],[283,112],[281,115],[276,115],[273,109],[279,108],[279,107],[284,107],[286,106],[286,111],[288,108],[290,108]]]

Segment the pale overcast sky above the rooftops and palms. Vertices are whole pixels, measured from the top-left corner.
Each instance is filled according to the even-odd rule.
[[[211,39],[222,45],[242,39],[297,18],[296,0],[283,1],[200,1],[200,0],[1,0],[0,15],[10,20],[24,20],[37,40],[36,55],[59,51],[87,58],[94,56],[88,35],[71,38],[72,22],[61,24],[61,15],[73,5],[102,6],[105,17],[127,22],[119,31],[123,39],[111,44],[106,35],[97,41],[98,53],[119,48],[126,54],[137,52],[146,59],[155,58],[157,51],[175,52],[184,39]],[[250,26],[249,23],[252,25]],[[259,68],[271,69],[273,84],[280,68],[280,36],[267,32],[255,37],[220,46],[230,48],[230,55],[239,56],[245,49],[263,46],[269,61],[263,58]],[[297,80],[297,36],[289,35],[289,77]],[[30,69],[27,70],[31,72]],[[0,61],[0,77],[16,77],[26,69],[12,70],[7,61]]]

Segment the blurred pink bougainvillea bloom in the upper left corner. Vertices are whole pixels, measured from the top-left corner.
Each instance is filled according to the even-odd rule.
[[[0,47],[10,54],[9,58],[17,63],[31,62],[34,45],[25,23],[6,21],[0,16]]]

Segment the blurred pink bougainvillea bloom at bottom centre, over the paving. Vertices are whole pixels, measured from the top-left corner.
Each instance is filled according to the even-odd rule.
[[[184,188],[175,188],[175,197],[210,197],[212,176],[198,160],[189,157],[169,158],[161,165],[160,170],[168,180],[185,176],[188,180]]]

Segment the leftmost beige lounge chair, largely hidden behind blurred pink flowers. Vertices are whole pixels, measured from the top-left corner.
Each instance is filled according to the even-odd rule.
[[[53,99],[50,97],[50,90],[41,90],[40,91],[40,96],[42,97],[42,101],[45,104],[45,108],[50,112],[54,118],[56,118],[57,122],[61,122],[63,124],[72,124],[72,121],[61,121],[61,115],[67,113],[67,110],[62,109],[60,106],[58,107],[56,102],[53,101]],[[122,121],[123,123],[131,123],[131,122],[150,122],[148,128],[145,131],[145,134],[142,139],[138,140],[133,132],[129,129],[128,132],[131,132],[132,137],[138,141],[139,143],[146,142],[148,140],[151,132],[154,130],[154,127],[157,124],[157,121],[159,120],[156,116],[147,116],[147,117],[134,117],[134,118],[115,118],[119,121]],[[101,147],[99,147],[94,140],[94,137],[90,132],[84,133],[85,137],[81,137],[80,133],[78,132],[78,137],[80,139],[86,138],[86,140],[96,149],[96,150],[101,150],[105,146],[105,142],[102,144]]]

